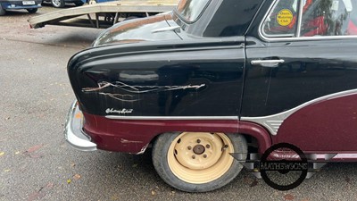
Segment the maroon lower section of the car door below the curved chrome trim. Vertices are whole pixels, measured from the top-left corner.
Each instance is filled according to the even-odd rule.
[[[307,153],[357,152],[357,95],[308,105],[289,116],[272,137]]]

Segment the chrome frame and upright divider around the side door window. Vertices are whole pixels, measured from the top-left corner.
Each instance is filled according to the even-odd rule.
[[[303,0],[300,0],[299,2],[299,11],[298,11],[298,19],[297,19],[297,28],[296,28],[296,33],[295,37],[286,37],[284,38],[283,35],[268,35],[264,34],[263,31],[263,25],[264,21],[267,19],[268,15],[270,14],[270,11],[274,9],[278,1],[284,1],[284,0],[273,0],[272,3],[270,4],[270,8],[268,9],[268,12],[265,13],[263,20],[261,21],[259,28],[258,28],[258,33],[259,36],[264,39],[265,41],[268,42],[274,42],[274,41],[303,41],[303,40],[331,40],[331,39],[341,39],[341,38],[357,38],[357,35],[351,35],[351,36],[313,36],[313,37],[300,37],[300,30],[301,30],[301,22],[303,19]],[[287,35],[286,35],[287,36]]]

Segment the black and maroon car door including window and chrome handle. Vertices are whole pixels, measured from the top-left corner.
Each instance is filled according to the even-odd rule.
[[[241,120],[303,151],[356,151],[357,1],[276,0],[265,9],[246,37]]]

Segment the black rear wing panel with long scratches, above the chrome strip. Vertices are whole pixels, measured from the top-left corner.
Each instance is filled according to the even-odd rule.
[[[237,116],[243,38],[173,43],[102,46],[75,55],[68,70],[82,110],[98,115]]]

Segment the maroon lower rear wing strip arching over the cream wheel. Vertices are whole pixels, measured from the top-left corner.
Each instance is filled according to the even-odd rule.
[[[99,149],[137,154],[157,135],[165,132],[223,132],[244,133],[257,139],[260,152],[271,145],[270,134],[261,126],[243,121],[138,121],[112,120],[103,116],[83,113],[85,132]]]

